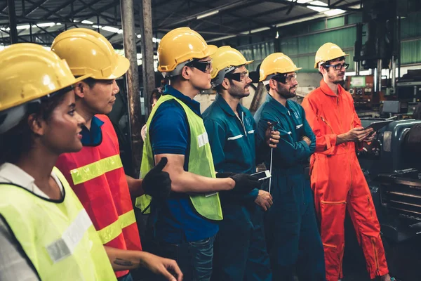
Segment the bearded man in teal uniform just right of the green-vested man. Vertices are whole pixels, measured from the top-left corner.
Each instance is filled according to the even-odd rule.
[[[212,58],[212,86],[216,100],[203,112],[213,163],[218,174],[256,172],[255,121],[240,105],[250,95],[247,61],[229,46],[218,48]],[[272,135],[272,136],[271,136]],[[269,138],[272,137],[272,140]],[[265,147],[276,148],[279,132],[267,131]],[[215,239],[212,280],[272,280],[263,232],[263,211],[272,205],[269,192],[258,186],[245,195],[220,192],[224,220]],[[239,235],[241,233],[241,235]]]

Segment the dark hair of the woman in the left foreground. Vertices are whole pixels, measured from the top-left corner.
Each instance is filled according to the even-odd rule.
[[[19,124],[0,135],[0,164],[4,162],[15,163],[22,155],[27,154],[32,149],[34,133],[28,123],[29,116],[36,115],[36,118],[48,121],[55,107],[64,100],[65,92],[67,91],[60,90],[57,94],[52,94],[51,98],[41,98],[40,103],[29,103],[27,105],[25,117]]]

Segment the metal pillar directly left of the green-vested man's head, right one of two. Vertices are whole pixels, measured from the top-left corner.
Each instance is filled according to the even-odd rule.
[[[143,97],[145,98],[145,117],[149,116],[150,95],[155,89],[154,43],[152,41],[152,6],[151,0],[140,1],[140,34],[142,44],[142,79]]]

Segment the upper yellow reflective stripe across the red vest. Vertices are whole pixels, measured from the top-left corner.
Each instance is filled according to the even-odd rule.
[[[84,183],[90,181],[93,178],[101,176],[109,171],[119,169],[123,166],[121,163],[120,155],[114,155],[105,159],[100,159],[97,162],[93,162],[86,166],[73,169],[70,171],[72,175],[73,184]]]

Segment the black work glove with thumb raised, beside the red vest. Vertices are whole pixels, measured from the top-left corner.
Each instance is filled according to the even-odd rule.
[[[145,193],[159,201],[166,200],[171,193],[170,174],[162,171],[167,162],[167,157],[162,157],[161,161],[146,174],[142,182]]]

